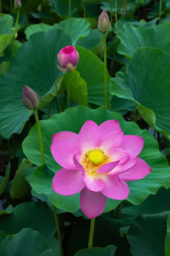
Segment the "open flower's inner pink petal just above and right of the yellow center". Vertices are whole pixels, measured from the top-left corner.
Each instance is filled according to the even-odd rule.
[[[123,131],[114,131],[104,137],[98,147],[104,149],[108,154],[112,155],[113,148],[119,148],[123,140]]]

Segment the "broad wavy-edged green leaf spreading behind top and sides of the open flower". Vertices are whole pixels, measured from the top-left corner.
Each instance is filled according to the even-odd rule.
[[[135,134],[144,138],[144,148],[139,156],[149,164],[152,172],[142,180],[128,182],[130,187],[128,201],[133,204],[141,204],[148,195],[156,194],[160,186],[167,188],[170,186],[170,167],[164,155],[159,151],[158,143],[154,137],[148,131],[141,130],[134,122],[126,122],[121,114],[107,111],[105,107],[92,110],[78,106],[56,114],[48,120],[40,121],[45,163],[54,173],[61,167],[51,155],[52,135],[59,131],[72,131],[78,134],[88,119],[93,120],[98,125],[106,120],[116,119],[125,134]],[[23,141],[23,151],[32,163],[42,165],[36,125],[31,128],[28,137]],[[38,178],[37,183],[39,183]],[[114,200],[113,204],[116,205]]]

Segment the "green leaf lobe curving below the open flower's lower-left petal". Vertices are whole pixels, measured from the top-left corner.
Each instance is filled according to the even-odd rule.
[[[32,189],[38,194],[45,194],[51,204],[67,212],[75,212],[80,208],[79,193],[71,196],[59,195],[52,189],[52,180],[54,172],[51,172],[47,166],[38,167],[30,179]]]

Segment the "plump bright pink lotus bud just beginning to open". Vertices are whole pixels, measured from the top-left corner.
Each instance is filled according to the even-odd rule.
[[[76,69],[79,62],[79,53],[74,48],[74,46],[66,46],[59,51],[57,56],[58,62],[61,65],[57,66],[60,71],[71,72]]]

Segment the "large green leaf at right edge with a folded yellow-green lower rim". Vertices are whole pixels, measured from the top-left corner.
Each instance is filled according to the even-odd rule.
[[[142,118],[170,138],[169,81],[170,54],[143,47],[134,53],[127,73],[117,73],[111,93],[135,102]]]

